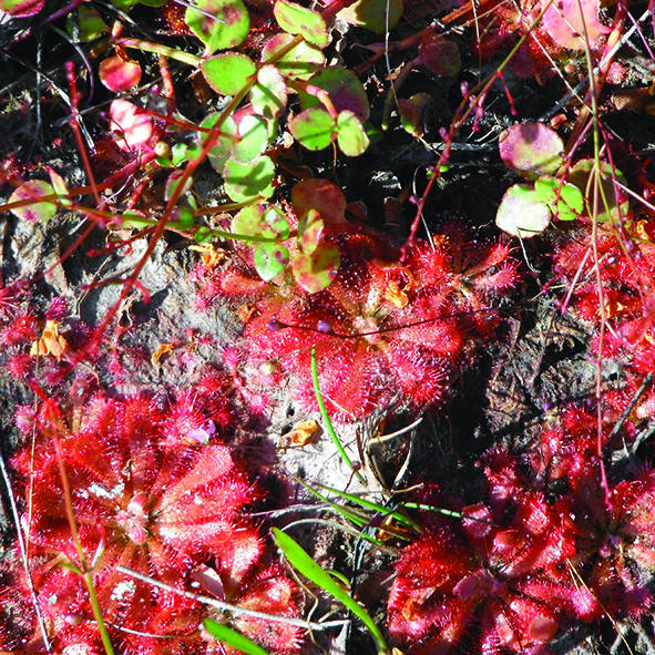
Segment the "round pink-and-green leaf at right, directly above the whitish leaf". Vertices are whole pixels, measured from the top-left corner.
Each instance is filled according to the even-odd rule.
[[[520,123],[503,132],[498,141],[505,166],[529,180],[553,175],[562,165],[564,142],[543,123]]]

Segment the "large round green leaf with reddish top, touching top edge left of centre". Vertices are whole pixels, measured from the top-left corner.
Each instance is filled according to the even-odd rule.
[[[195,7],[187,7],[184,20],[205,44],[206,54],[240,45],[250,31],[250,18],[242,0],[196,0]]]

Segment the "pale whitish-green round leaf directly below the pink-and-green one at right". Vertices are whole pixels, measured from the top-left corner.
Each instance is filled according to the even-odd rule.
[[[520,238],[530,238],[541,234],[550,222],[549,206],[528,184],[510,186],[495,215],[495,224],[503,232]]]

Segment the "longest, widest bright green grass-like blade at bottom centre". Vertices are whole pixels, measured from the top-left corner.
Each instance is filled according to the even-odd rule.
[[[375,639],[378,647],[378,653],[381,655],[388,655],[389,648],[385,643],[382,633],[378,630],[373,620],[368,615],[367,611],[350,596],[340,584],[335,582],[331,575],[320,567],[304,550],[296,543],[288,534],[278,530],[273,529],[273,539],[275,543],[285,554],[285,557],[295,566],[305,577],[317,584],[320,589],[325,590],[328,594],[332,595],[337,601],[341,602],[352,614],[358,616],[364,625],[369,631],[371,637]]]

